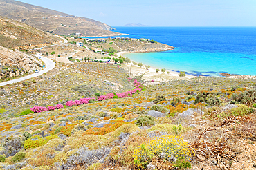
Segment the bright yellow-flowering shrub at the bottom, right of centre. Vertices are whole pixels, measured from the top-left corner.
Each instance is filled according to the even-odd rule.
[[[163,135],[141,144],[134,150],[134,166],[145,168],[154,155],[169,162],[174,162],[175,159],[190,160],[192,153],[192,149],[183,138]]]

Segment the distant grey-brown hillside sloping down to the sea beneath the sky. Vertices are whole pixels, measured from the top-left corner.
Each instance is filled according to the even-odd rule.
[[[13,0],[0,0],[0,16],[58,35],[118,35],[105,23]]]

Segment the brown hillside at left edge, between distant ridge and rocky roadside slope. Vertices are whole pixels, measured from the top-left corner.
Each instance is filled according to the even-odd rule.
[[[51,34],[24,23],[0,17],[0,46],[6,48],[33,48],[62,41]]]

